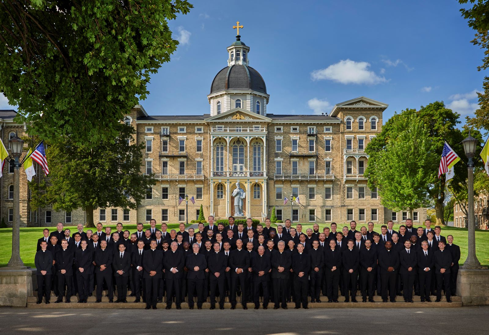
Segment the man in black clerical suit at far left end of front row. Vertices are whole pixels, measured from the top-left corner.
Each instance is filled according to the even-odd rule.
[[[36,266],[37,277],[37,302],[40,304],[43,302],[43,295],[45,294],[45,303],[49,304],[49,298],[51,297],[51,283],[52,283],[52,267],[53,267],[53,254],[47,250],[46,241],[42,240],[40,244],[41,250],[36,252],[34,257],[34,264]],[[45,288],[45,289],[44,289]]]

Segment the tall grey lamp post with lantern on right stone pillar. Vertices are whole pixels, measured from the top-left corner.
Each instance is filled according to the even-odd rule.
[[[466,139],[462,141],[464,145],[467,162],[467,181],[468,181],[468,210],[467,210],[467,233],[468,233],[468,254],[464,262],[464,268],[480,268],[481,263],[475,255],[475,217],[474,217],[474,161],[477,139],[470,136],[470,131]]]

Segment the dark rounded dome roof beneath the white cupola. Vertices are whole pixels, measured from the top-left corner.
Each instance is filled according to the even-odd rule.
[[[251,89],[267,94],[267,86],[260,73],[253,67],[245,65],[224,67],[216,74],[210,94],[227,89]]]

